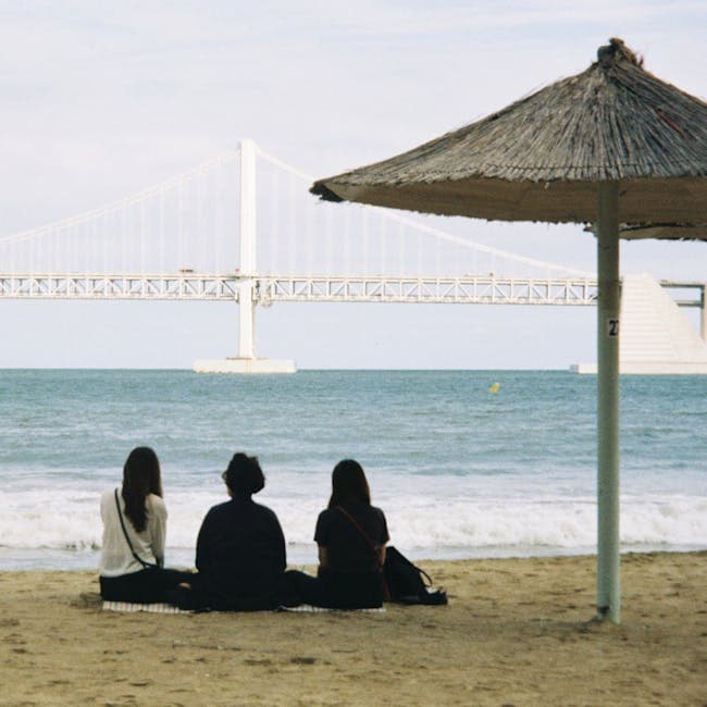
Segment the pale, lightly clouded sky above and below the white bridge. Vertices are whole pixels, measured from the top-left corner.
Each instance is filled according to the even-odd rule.
[[[585,70],[613,36],[705,98],[705,0],[0,0],[0,237],[241,138],[318,177],[385,159]],[[595,270],[578,226],[436,222]],[[707,244],[623,244],[621,259],[624,273],[707,280]],[[299,368],[566,369],[596,359],[595,320],[594,308],[275,305],[258,311],[257,346]],[[237,307],[223,302],[0,299],[0,368],[190,368],[237,350]]]

